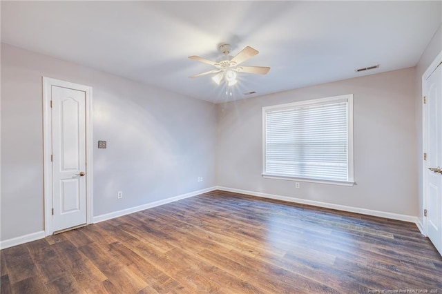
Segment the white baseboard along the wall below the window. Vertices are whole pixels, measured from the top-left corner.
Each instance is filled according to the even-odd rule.
[[[413,222],[419,228],[419,225],[418,225],[419,219],[417,217],[413,217],[411,215],[400,215],[397,213],[387,213],[385,211],[379,211],[379,210],[371,210],[371,209],[365,209],[365,208],[345,206],[345,205],[340,205],[340,204],[332,204],[332,203],[327,203],[327,202],[318,202],[318,201],[314,201],[314,200],[273,195],[273,194],[254,192],[254,191],[249,191],[249,190],[240,190],[240,189],[236,189],[236,188],[228,188],[228,187],[223,187],[223,186],[217,186],[216,189],[227,191],[227,192],[233,192],[233,193],[247,194],[247,195],[256,196],[256,197],[276,199],[276,200],[282,200],[282,201],[294,202],[294,203],[300,203],[300,204],[308,204],[308,205],[319,206],[319,207],[324,207],[324,208],[332,208],[332,209],[336,209],[336,210],[348,211],[350,213],[361,213],[362,215],[372,215],[374,217],[385,217],[387,219],[396,219],[396,220],[401,220],[404,222]]]

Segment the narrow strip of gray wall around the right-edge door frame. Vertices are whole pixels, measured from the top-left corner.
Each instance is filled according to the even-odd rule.
[[[422,150],[422,75],[427,70],[428,66],[433,62],[436,56],[442,50],[442,26],[439,26],[439,30],[434,34],[432,40],[428,44],[427,48],[423,52],[421,59],[416,65],[416,133],[417,133],[417,153],[418,168],[416,170],[416,177],[418,178],[418,193],[419,193],[419,206],[418,217],[419,222],[423,224],[423,179],[422,179],[422,166],[423,166],[423,150]]]

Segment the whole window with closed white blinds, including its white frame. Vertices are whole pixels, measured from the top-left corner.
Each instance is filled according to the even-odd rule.
[[[352,186],[353,95],[262,108],[264,177]]]

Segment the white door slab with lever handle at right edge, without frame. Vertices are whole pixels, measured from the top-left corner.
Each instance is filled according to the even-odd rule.
[[[427,78],[427,235],[442,254],[442,66]]]

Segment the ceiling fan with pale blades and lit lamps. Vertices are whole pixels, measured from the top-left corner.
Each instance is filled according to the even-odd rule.
[[[202,72],[193,77],[201,77],[202,75],[216,74],[212,77],[216,84],[220,84],[221,81],[225,81],[228,86],[233,86],[238,82],[236,79],[237,72],[248,72],[251,74],[265,75],[269,72],[270,68],[263,66],[240,66],[241,63],[247,59],[258,54],[258,50],[255,50],[249,46],[242,49],[235,57],[229,55],[231,46],[229,44],[220,45],[220,52],[224,55],[218,59],[218,61],[211,61],[199,56],[189,56],[190,59],[204,62],[215,66],[216,69],[209,70],[208,72]]]

